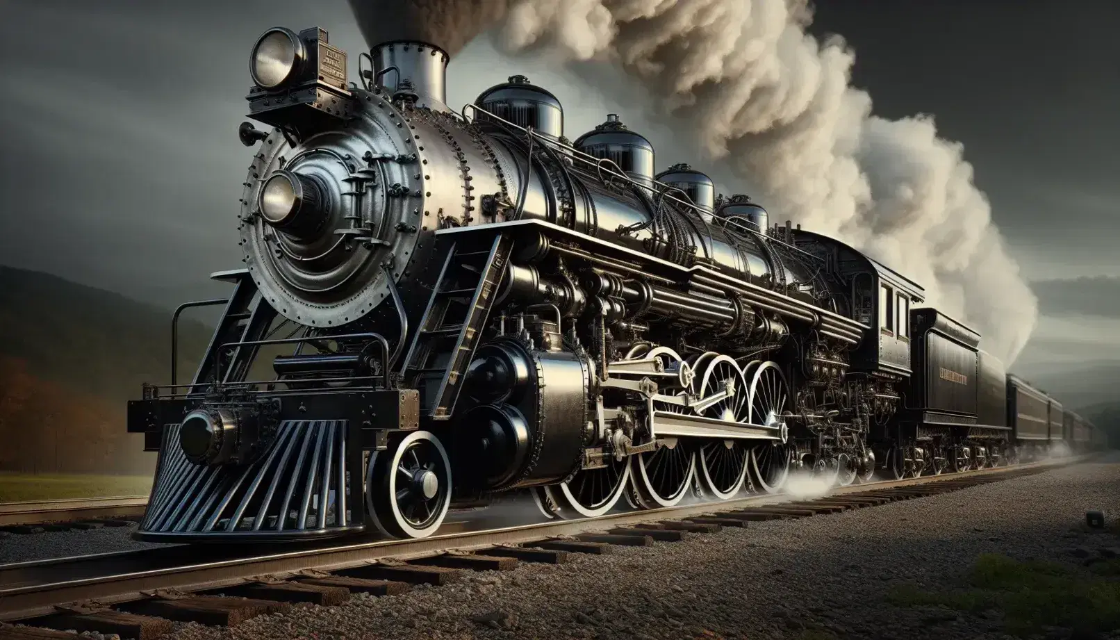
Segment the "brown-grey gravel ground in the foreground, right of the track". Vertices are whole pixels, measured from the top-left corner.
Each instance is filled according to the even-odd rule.
[[[1120,546],[1116,534],[1085,530],[1089,509],[1110,526],[1120,514],[1120,454],[881,507],[572,554],[564,565],[522,563],[398,596],[355,594],[234,628],[176,623],[169,638],[1004,639],[996,612],[896,607],[885,597],[905,582],[958,585],[983,553],[1070,560],[1071,549]]]

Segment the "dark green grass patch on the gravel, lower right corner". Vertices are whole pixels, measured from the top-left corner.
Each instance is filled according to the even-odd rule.
[[[1120,628],[1120,560],[1089,568],[1057,563],[1021,563],[984,554],[969,572],[963,588],[933,593],[903,585],[887,600],[899,606],[948,606],[958,611],[1004,613],[1009,633],[1028,636],[1043,627],[1086,632]]]

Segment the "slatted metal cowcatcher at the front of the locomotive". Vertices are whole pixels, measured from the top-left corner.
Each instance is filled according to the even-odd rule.
[[[286,420],[255,462],[204,466],[184,455],[179,425],[167,425],[148,510],[132,537],[234,542],[362,531],[362,458],[352,455],[361,440],[352,432],[347,420]]]

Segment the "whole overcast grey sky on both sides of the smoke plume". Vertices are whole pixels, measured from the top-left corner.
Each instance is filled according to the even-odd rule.
[[[1040,298],[1020,369],[1120,360],[1117,18],[1105,0],[818,3],[812,30],[855,48],[876,113],[932,113],[964,145]],[[0,263],[167,306],[221,293],[205,278],[240,266],[249,49],[273,25],[327,29],[354,77],[344,0],[0,0]],[[619,109],[485,39],[451,63],[449,102],[513,73],[564,101],[571,138]]]

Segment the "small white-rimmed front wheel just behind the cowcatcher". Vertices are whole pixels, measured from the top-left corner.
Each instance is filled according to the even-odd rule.
[[[451,504],[451,465],[439,438],[412,432],[373,452],[365,505],[377,529],[394,538],[427,538]]]

